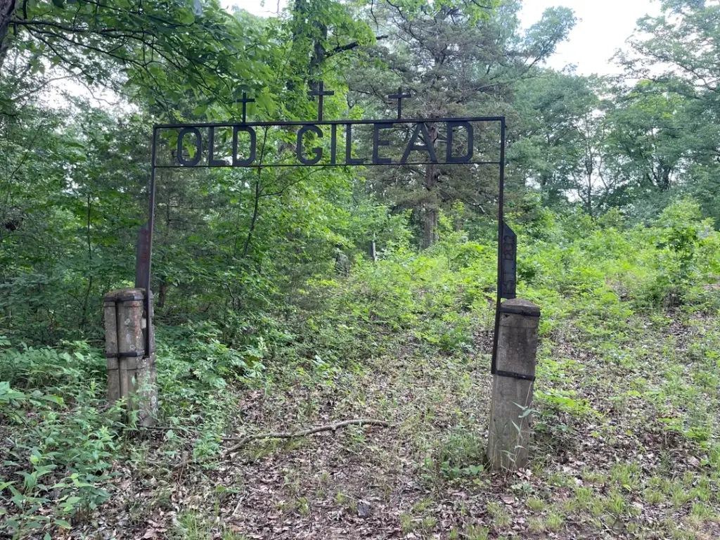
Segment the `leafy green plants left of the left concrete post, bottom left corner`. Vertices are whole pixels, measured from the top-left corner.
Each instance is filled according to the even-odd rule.
[[[0,530],[70,528],[109,498],[121,417],[104,402],[103,363],[83,343],[0,351],[0,418],[13,426]]]

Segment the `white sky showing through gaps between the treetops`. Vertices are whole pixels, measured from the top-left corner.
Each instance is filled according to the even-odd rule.
[[[248,12],[269,16],[287,0],[224,0],[226,6],[236,5]],[[562,43],[548,65],[562,69],[577,66],[577,73],[609,75],[621,73],[610,58],[635,28],[635,21],[645,14],[660,13],[660,3],[653,0],[524,0],[521,20],[528,27],[540,19],[545,9],[566,6],[578,19],[570,40]]]

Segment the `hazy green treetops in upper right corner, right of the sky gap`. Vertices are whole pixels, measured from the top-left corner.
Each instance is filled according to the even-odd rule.
[[[631,53],[618,57],[641,82],[621,99],[616,139],[644,171],[646,194],[664,194],[654,201],[660,209],[683,192],[718,217],[720,4],[665,0],[662,8],[659,17],[639,20]]]

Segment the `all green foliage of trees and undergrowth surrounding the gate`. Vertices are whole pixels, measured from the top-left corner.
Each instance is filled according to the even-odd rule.
[[[718,8],[663,8],[639,22],[641,54],[624,61],[634,79],[657,60],[680,69],[624,87],[541,68],[575,18],[550,9],[525,31],[516,1],[310,0],[270,19],[229,14],[215,0],[141,10],[19,3],[12,32],[0,28],[0,534],[79,525],[117,495],[114,464],[146,465],[148,440],[122,404],[104,399],[98,347],[102,295],[130,285],[147,218],[152,125],[237,117],[243,91],[256,99],[250,120],[305,120],[317,112],[307,90],[320,80],[336,90],[325,102],[333,119],[395,114],[387,94],[397,86],[423,96],[405,102],[406,117],[508,117],[505,219],[518,233],[518,295],[543,313],[536,402],[526,410],[534,444],[572,449],[588,424],[592,438],[618,441],[616,415],[631,410],[634,428],[701,449],[703,467],[718,469],[720,329],[708,314],[720,308],[720,108],[707,82]],[[58,76],[108,86],[119,105],[68,96]],[[318,142],[326,152],[328,139]],[[174,142],[159,141],[163,151]],[[277,130],[265,143],[279,152],[294,141]],[[321,408],[318,387],[336,390],[337,410],[364,402],[345,383],[369,377],[367,361],[392,355],[429,369],[432,387],[418,393],[431,400],[447,366],[487,371],[495,168],[369,169],[158,171],[152,287],[160,421],[171,429],[153,451],[218,467],[246,390],[286,399],[274,387],[279,373],[307,390],[305,420]],[[366,255],[372,240],[377,261]],[[697,342],[665,336],[675,324],[697,325]],[[453,383],[467,390],[469,375]],[[482,428],[457,408],[436,422],[450,428],[418,445],[433,487],[487,484]],[[425,421],[439,420],[430,409]],[[362,433],[347,431],[354,449],[367,444]],[[678,508],[697,499],[690,516],[708,517],[711,490],[699,482],[660,491],[635,464],[608,475],[603,497],[577,487],[577,505],[598,519],[634,517],[629,493]],[[534,482],[510,489],[527,496]],[[555,474],[549,484],[570,480]],[[288,505],[310,512],[296,495]],[[508,526],[502,505],[487,510],[494,527]],[[548,510],[535,516],[539,534],[564,527],[564,513]],[[172,534],[230,538],[219,516],[182,510]],[[437,528],[433,516],[403,516],[408,532]]]

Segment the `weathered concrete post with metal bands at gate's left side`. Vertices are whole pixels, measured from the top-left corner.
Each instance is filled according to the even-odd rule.
[[[152,297],[150,297],[152,300]],[[152,309],[152,302],[150,302]],[[155,333],[145,351],[147,318],[143,289],[117,289],[104,298],[107,400],[127,400],[139,410],[141,426],[151,426],[158,409]]]

